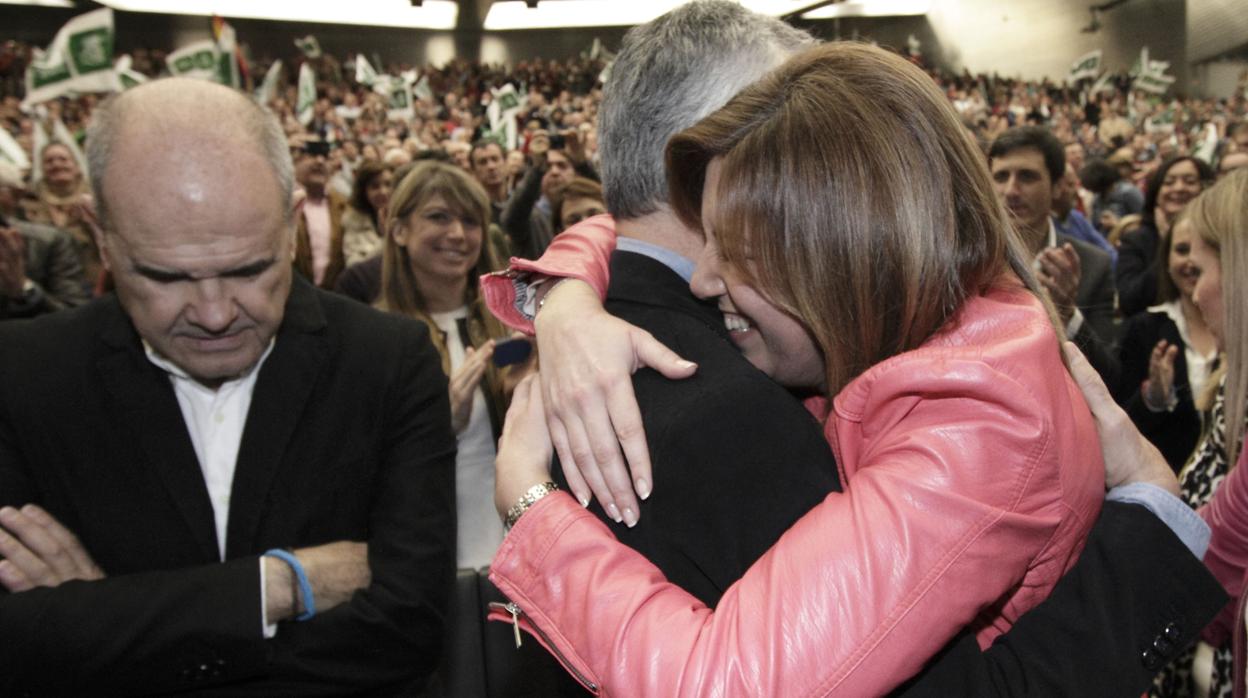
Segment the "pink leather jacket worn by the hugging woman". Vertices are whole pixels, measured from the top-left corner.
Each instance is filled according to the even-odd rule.
[[[557,493],[494,558],[513,603],[492,617],[600,694],[875,696],[962,628],[981,644],[1008,628],[1075,562],[1099,511],[1092,417],[1043,307],[1016,282],[846,386],[825,431],[845,492],[714,612]]]

